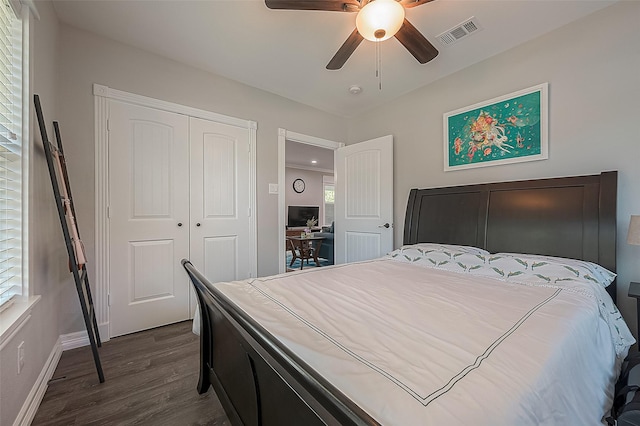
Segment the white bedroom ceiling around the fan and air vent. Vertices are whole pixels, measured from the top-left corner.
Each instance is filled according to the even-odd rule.
[[[270,10],[262,0],[54,0],[61,22],[318,109],[351,116],[579,19],[616,0],[436,0],[407,19],[440,51],[421,65],[396,40],[374,43],[345,66],[326,64],[355,28],[355,14]],[[482,26],[454,44],[436,36],[470,17]],[[570,52],[568,52],[570,54]],[[348,88],[362,87],[352,95]]]

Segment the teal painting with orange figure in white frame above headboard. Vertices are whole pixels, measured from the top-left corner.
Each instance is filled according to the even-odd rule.
[[[547,87],[444,114],[445,171],[548,158]]]

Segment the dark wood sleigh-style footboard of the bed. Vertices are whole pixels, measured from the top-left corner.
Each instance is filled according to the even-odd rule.
[[[213,386],[234,425],[377,425],[239,310],[184,259],[201,312],[198,392]]]

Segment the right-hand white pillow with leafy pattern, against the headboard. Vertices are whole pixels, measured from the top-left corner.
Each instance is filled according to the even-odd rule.
[[[496,253],[492,255],[492,257],[496,256],[517,259],[520,262],[532,265],[532,268],[534,268],[533,265],[536,265],[535,268],[538,268],[538,271],[543,271],[541,273],[548,273],[553,276],[565,276],[566,271],[569,271],[576,278],[582,277],[586,280],[597,282],[604,287],[607,287],[616,278],[616,274],[613,272],[597,263],[586,260],[520,253]]]

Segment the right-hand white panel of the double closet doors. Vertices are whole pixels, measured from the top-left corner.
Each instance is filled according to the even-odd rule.
[[[190,119],[190,259],[211,282],[252,270],[249,130]]]

